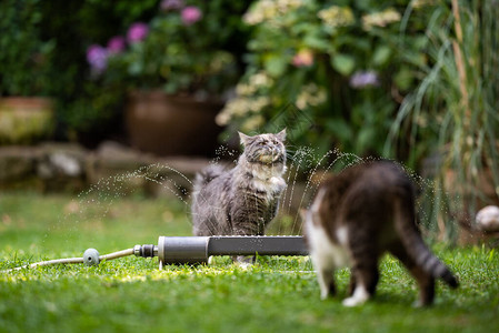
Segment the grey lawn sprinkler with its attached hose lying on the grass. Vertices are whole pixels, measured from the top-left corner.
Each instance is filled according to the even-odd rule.
[[[132,254],[142,258],[158,256],[161,270],[164,264],[208,263],[212,255],[308,255],[308,251],[302,236],[159,236],[158,245],[134,245],[104,255],[99,255],[96,249],[88,249],[82,258],[41,261],[4,272],[71,263],[91,266],[104,260]]]

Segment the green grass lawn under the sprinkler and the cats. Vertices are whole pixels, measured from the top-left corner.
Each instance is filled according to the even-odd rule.
[[[159,235],[189,235],[189,209],[168,199],[0,194],[0,270],[39,260],[101,254]],[[242,270],[228,258],[210,266],[167,266],[134,256],[0,273],[0,332],[499,332],[496,249],[436,253],[461,286],[437,285],[436,304],[413,309],[415,281],[391,258],[376,297],[346,309],[319,300],[308,258],[260,258]]]

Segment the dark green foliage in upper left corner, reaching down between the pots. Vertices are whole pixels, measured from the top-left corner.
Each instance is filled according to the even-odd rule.
[[[133,21],[150,19],[157,2],[2,1],[0,94],[52,97],[58,139],[109,134],[120,119],[120,103],[111,100],[122,100],[122,91],[114,85],[98,92],[96,82],[89,81],[87,47]]]

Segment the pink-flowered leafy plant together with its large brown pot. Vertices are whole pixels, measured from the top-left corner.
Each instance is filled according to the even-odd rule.
[[[213,151],[214,115],[236,84],[243,33],[232,1],[166,0],[150,22],[88,52],[96,77],[128,91],[126,125],[133,147],[159,154]]]

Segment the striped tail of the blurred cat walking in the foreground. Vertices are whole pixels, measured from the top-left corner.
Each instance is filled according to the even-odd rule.
[[[405,189],[407,190],[407,189]],[[398,196],[396,229],[407,252],[416,263],[435,279],[441,279],[451,287],[457,287],[459,282],[452,272],[428,249],[416,224],[415,198],[412,190],[403,191]]]

